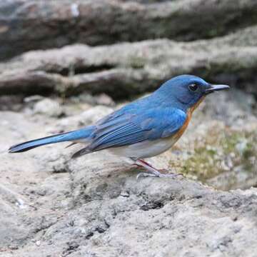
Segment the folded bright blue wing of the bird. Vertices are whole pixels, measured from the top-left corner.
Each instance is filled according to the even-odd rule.
[[[186,113],[175,108],[144,109],[136,114],[118,115],[98,124],[87,148],[99,151],[172,136],[185,121]]]

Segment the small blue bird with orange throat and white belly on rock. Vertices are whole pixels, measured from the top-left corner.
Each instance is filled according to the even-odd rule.
[[[167,151],[183,135],[193,111],[208,94],[229,89],[225,84],[209,84],[198,76],[179,75],[169,79],[152,94],[132,101],[96,124],[76,131],[59,133],[19,143],[9,153],[20,153],[38,146],[64,141],[84,143],[72,158],[101,150],[126,157],[144,169],[139,176],[176,177],[162,173],[144,161]],[[69,146],[71,146],[69,145]]]

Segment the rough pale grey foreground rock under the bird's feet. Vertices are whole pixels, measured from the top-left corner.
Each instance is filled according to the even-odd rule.
[[[83,162],[70,166],[77,168],[72,193],[80,188],[74,207],[44,229],[41,255],[29,242],[16,256],[254,256],[255,189],[228,193],[186,179],[136,181],[134,172],[111,171],[108,162],[96,173],[98,157]]]

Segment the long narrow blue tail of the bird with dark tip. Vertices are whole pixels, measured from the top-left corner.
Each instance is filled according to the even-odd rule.
[[[46,136],[44,138],[39,138],[24,143],[19,143],[9,148],[9,153],[20,153],[23,151],[28,151],[32,148],[38,146],[44,146],[49,143],[59,143],[64,141],[76,141],[79,139],[89,138],[91,133],[94,131],[94,126],[88,126],[84,129],[79,129],[77,131],[70,131],[66,133],[59,133],[54,136]]]

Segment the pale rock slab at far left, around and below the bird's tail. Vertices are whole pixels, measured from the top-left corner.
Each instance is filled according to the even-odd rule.
[[[44,148],[39,155],[7,153],[11,144],[35,138],[46,133],[45,129],[44,119],[35,122],[28,114],[1,111],[0,248],[3,256],[36,235],[40,237],[41,231],[56,222],[69,205],[69,173],[61,172],[61,166],[52,161],[51,148]],[[57,150],[59,146],[54,149],[61,153]],[[56,169],[61,173],[54,173]]]

